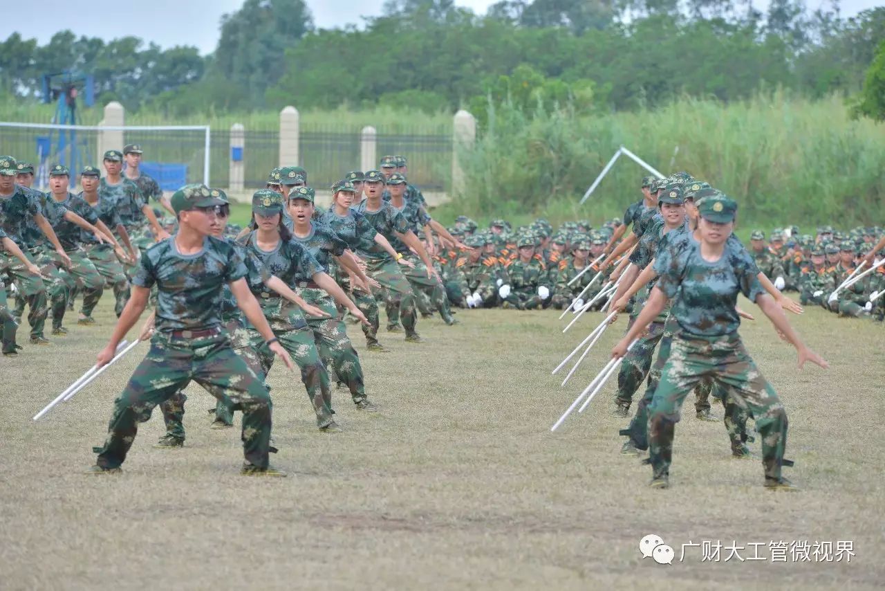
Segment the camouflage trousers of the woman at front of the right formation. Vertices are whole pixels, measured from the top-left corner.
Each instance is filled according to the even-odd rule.
[[[787,446],[787,412],[735,332],[724,337],[673,338],[670,357],[649,405],[649,457],[655,477],[669,474],[673,435],[682,401],[704,378],[756,421],[766,479],[781,478]]]

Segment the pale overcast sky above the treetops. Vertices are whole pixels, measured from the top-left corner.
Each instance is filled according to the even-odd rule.
[[[317,27],[332,28],[377,16],[384,0],[307,0],[307,4]],[[458,0],[457,4],[481,14],[494,0]],[[755,4],[764,6],[767,0]],[[815,9],[828,3],[809,0],[808,4]],[[881,0],[843,0],[843,15],[852,16],[876,4]],[[15,4],[14,17],[0,19],[0,40],[18,31],[45,43],[56,31],[69,28],[76,35],[104,39],[136,35],[164,48],[196,45],[206,54],[215,50],[221,15],[241,5],[242,0],[32,0]]]

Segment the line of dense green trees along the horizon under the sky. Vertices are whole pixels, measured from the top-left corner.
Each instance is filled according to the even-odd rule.
[[[170,117],[349,105],[484,113],[507,101],[576,113],[633,110],[675,97],[734,101],[775,87],[852,97],[881,119],[885,8],[845,19],[838,0],[810,12],[772,0],[503,0],[484,15],[453,0],[389,0],[363,27],[314,27],[303,0],[245,0],[219,43],[161,49],[61,31],[0,43],[0,91],[36,99],[41,75],[92,74],[101,102]],[[878,58],[876,57],[878,53]]]

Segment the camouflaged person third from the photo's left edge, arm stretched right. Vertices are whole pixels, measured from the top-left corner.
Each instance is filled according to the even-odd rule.
[[[68,191],[70,180],[70,171],[67,167],[61,165],[53,167],[50,170],[51,198],[59,205],[64,206],[65,209],[73,211],[73,213],[80,215],[90,224],[98,227],[103,234],[106,232],[101,237],[101,240],[110,243],[113,239],[111,230],[104,225],[104,222],[98,219],[96,211],[86,201],[72,195]],[[89,261],[89,255],[83,248],[83,237],[81,236],[79,226],[62,220],[56,226],[56,234],[58,235],[58,241],[65,248],[65,253],[67,253],[71,261],[71,265],[67,268],[68,275],[66,276],[68,290],[73,289],[75,282],[80,282],[83,287],[83,307],[81,308],[80,318],[77,323],[94,324],[96,321],[93,320],[90,314],[93,308],[96,307],[98,300],[101,299],[102,293],[104,293],[104,277],[98,272],[92,261]],[[101,240],[95,239],[96,242],[101,242]],[[114,244],[116,244],[116,241],[114,241]],[[119,256],[125,256],[119,245],[116,245],[116,248]],[[67,330],[62,326],[66,309],[67,302],[58,302],[58,305],[52,308],[52,334],[67,334]]]

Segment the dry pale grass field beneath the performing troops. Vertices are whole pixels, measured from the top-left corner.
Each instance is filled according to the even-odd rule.
[[[821,309],[791,316],[828,371],[795,367],[765,320],[744,322],[750,352],[789,413],[785,474],[800,494],[762,487],[758,461],[731,459],[721,423],[687,405],[676,430],[671,488],[619,454],[614,386],[556,433],[550,425],[604,364],[609,330],[573,383],[552,369],[597,322],[560,333],[555,311],[461,311],[422,321],[426,344],[383,333],[391,354],[364,353],[377,415],[335,393],[344,432],[314,426],[304,388],[274,367],[272,462],[289,478],[244,478],[239,430],[209,429],[213,399],[189,387],[185,447],[151,445],[142,424],[123,474],[83,474],[104,440],[112,399],[142,345],[39,422],[31,417],[88,369],[110,333],[111,301],[94,327],[0,358],[0,587],[54,588],[881,588],[885,509],[881,433],[885,327]],[[744,302],[745,309],[751,309]],[[759,314],[759,316],[761,316]],[[383,321],[382,321],[383,326]],[[19,330],[27,343],[27,323]],[[21,341],[22,338],[19,338]],[[613,382],[613,380],[612,380]],[[715,407],[721,416],[721,408]],[[237,418],[239,422],[239,418]],[[751,444],[758,453],[758,442]],[[655,533],[676,560],[643,559]],[[753,544],[852,542],[850,562],[746,560]],[[702,561],[704,541],[743,546]],[[831,555],[832,557],[832,555]],[[818,558],[818,560],[815,560]]]

